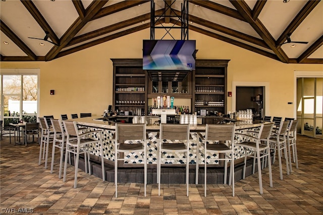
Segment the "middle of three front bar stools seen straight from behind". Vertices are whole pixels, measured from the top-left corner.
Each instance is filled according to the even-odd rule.
[[[188,184],[189,184],[189,125],[188,124],[160,124],[159,131],[159,145],[158,150],[158,164],[157,164],[157,183],[158,183],[158,195],[160,195],[160,169],[161,160],[183,160],[183,158],[168,158],[162,157],[162,154],[184,152],[186,156],[186,195],[188,196]],[[170,143],[169,141],[176,141]]]

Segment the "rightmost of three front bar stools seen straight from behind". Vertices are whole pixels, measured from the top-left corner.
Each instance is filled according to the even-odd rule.
[[[224,160],[224,184],[227,184],[228,162],[231,162],[229,185],[232,182],[232,196],[234,196],[234,137],[235,125],[206,124],[205,139],[202,141],[204,158],[204,196],[206,197],[207,164],[211,161]],[[219,156],[211,158],[210,154]],[[221,157],[220,154],[224,156]]]

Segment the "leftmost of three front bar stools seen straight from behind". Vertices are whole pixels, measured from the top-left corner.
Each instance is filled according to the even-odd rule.
[[[115,133],[115,186],[116,198],[118,197],[118,161],[129,163],[129,158],[124,153],[140,152],[141,156],[131,158],[144,163],[144,196],[147,185],[147,152],[146,152],[146,125],[116,123]]]

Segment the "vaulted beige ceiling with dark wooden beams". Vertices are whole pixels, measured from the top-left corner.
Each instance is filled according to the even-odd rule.
[[[323,64],[322,1],[285,1],[189,0],[189,30],[283,63]],[[183,0],[154,3],[155,16],[164,16],[156,24],[181,26],[174,15]],[[149,0],[2,0],[0,7],[1,61],[51,61],[150,28]],[[287,35],[291,42],[282,44]]]

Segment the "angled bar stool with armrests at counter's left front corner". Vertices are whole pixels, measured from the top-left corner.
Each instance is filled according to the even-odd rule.
[[[77,187],[77,172],[79,166],[79,157],[80,154],[84,154],[85,161],[85,172],[88,172],[91,175],[91,166],[90,166],[90,152],[97,151],[97,148],[93,144],[97,144],[100,151],[101,156],[101,168],[102,168],[102,180],[105,181],[104,174],[104,159],[103,159],[103,145],[102,145],[102,130],[97,129],[94,131],[89,131],[86,133],[79,133],[77,129],[77,125],[75,121],[63,121],[64,128],[66,130],[67,139],[66,139],[66,154],[65,154],[65,164],[64,164],[64,176],[63,182],[66,181],[66,170],[67,170],[67,157],[69,153],[73,153],[76,155],[75,158],[75,176],[74,176],[74,188]],[[88,134],[99,134],[97,140],[90,138],[83,138],[83,136]],[[71,138],[72,136],[76,136],[76,140]]]

